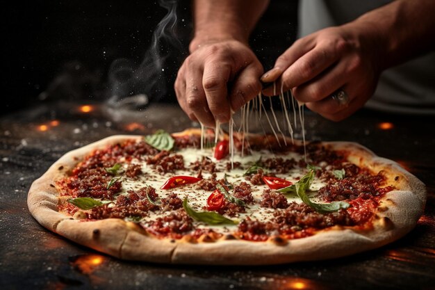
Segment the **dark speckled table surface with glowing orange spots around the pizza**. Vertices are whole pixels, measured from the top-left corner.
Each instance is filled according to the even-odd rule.
[[[361,143],[425,182],[425,214],[399,241],[330,261],[173,266],[101,255],[29,214],[28,188],[65,152],[113,134],[195,125],[177,106],[130,112],[94,104],[83,112],[80,105],[42,105],[0,118],[0,289],[435,289],[434,117],[360,111],[335,123],[306,113],[308,139]]]

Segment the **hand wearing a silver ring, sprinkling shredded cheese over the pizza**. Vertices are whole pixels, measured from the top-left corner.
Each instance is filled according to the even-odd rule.
[[[323,29],[297,40],[261,77],[276,92],[292,90],[299,102],[329,120],[352,115],[372,96],[381,72],[377,43],[363,28],[346,24]],[[281,87],[282,86],[282,87]],[[348,102],[330,96],[343,90]],[[264,95],[274,95],[271,86]]]

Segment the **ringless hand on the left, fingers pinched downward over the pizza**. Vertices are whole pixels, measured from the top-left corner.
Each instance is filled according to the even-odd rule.
[[[191,120],[214,127],[258,95],[261,74],[263,66],[243,42],[207,42],[186,58],[174,88]]]

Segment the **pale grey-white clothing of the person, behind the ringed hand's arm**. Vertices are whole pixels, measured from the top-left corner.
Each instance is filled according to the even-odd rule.
[[[299,31],[304,36],[350,22],[390,0],[299,1]],[[363,81],[363,80],[361,80]],[[435,114],[435,52],[384,71],[367,108],[394,113]]]

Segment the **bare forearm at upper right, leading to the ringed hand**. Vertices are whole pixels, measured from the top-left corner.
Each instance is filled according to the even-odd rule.
[[[379,45],[381,69],[435,49],[435,1],[397,0],[359,17],[349,25]]]

